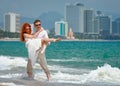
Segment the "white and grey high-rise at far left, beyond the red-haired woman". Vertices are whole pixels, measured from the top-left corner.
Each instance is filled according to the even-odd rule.
[[[20,32],[20,15],[6,13],[4,15],[4,30],[7,32]]]

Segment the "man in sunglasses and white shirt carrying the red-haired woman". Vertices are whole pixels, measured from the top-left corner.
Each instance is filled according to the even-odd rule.
[[[41,21],[40,20],[35,20],[34,21],[34,27],[36,28],[36,32],[40,31],[39,35],[37,38],[48,38],[48,34],[47,32],[44,30],[43,27],[41,27]],[[47,67],[47,62],[46,62],[46,57],[45,57],[45,53],[41,54],[40,52],[38,53],[38,57],[37,60],[39,62],[39,64],[41,65],[42,69],[44,70],[47,79],[50,80],[50,72],[49,69]],[[27,63],[27,74],[29,78],[33,78],[33,72],[32,72],[32,65],[31,65],[31,60],[28,59],[28,63]]]

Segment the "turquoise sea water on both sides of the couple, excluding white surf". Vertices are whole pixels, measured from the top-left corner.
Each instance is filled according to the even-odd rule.
[[[0,55],[27,58],[24,43],[0,42]],[[49,64],[75,68],[96,68],[105,63],[120,68],[120,42],[62,41],[51,43],[46,49]],[[54,60],[58,60],[55,61]]]

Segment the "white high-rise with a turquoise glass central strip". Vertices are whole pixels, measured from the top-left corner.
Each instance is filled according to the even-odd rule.
[[[65,21],[55,22],[55,35],[61,35],[67,37],[68,23]]]

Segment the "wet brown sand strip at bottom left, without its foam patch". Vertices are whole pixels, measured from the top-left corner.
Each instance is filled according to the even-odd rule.
[[[68,84],[68,83],[52,83],[49,81],[37,81],[37,80],[25,80],[25,79],[6,79],[0,78],[0,86],[9,86],[3,83],[14,83],[15,86],[86,86],[80,84]],[[11,85],[10,85],[11,86]]]

